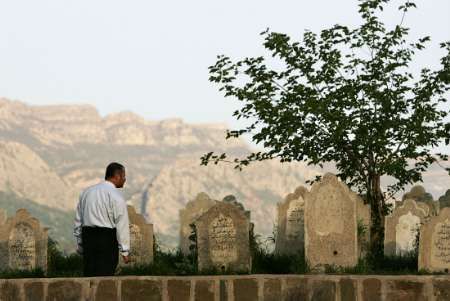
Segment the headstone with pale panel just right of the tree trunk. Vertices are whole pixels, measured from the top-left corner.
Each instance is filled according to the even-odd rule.
[[[414,251],[420,226],[429,216],[429,207],[407,199],[392,214],[386,216],[384,226],[384,254],[404,255]]]

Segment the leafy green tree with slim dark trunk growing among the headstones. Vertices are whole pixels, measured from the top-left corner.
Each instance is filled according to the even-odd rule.
[[[450,42],[440,44],[445,54],[439,69],[424,68],[415,78],[409,66],[430,37],[407,41],[403,19],[415,7],[411,1],[399,7],[399,24],[386,28],[379,14],[387,2],[361,0],[361,26],[305,31],[301,41],[266,30],[270,59],[233,62],[218,56],[209,67],[210,81],[242,103],[233,115],[249,122],[226,138],[250,135],[265,151],[234,159],[211,152],[201,158],[203,165],[225,161],[236,168],[267,159],[334,163],[338,177],[371,205],[373,254],[383,248],[386,199],[422,181],[432,163],[448,160],[433,148],[450,140],[445,108]],[[387,191],[381,189],[382,176],[396,180]]]

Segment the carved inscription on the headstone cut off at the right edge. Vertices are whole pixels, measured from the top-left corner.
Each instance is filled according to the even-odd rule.
[[[432,240],[432,257],[433,265],[449,265],[450,264],[450,221],[437,223]]]

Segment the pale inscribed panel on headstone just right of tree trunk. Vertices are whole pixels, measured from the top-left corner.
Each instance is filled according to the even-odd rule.
[[[414,250],[417,231],[420,228],[420,217],[409,211],[399,217],[395,226],[396,254],[402,255]]]

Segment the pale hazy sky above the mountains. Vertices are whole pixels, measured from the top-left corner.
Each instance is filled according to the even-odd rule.
[[[392,1],[395,8],[401,1]],[[450,1],[416,1],[412,37],[432,36],[415,66],[436,66],[450,40]],[[32,104],[89,103],[101,114],[226,122],[237,103],[208,82],[217,54],[262,54],[267,27],[300,36],[360,22],[356,0],[0,0],[0,96]],[[401,14],[386,15],[396,24]]]

